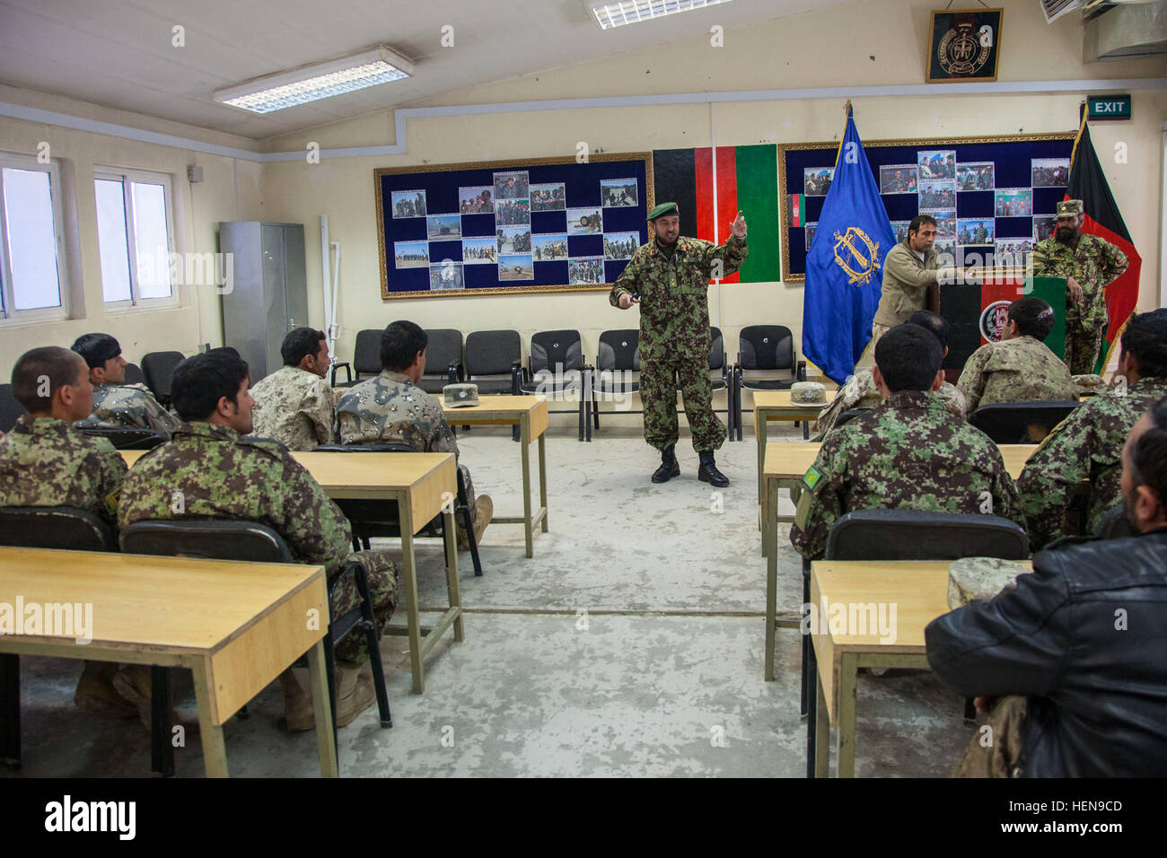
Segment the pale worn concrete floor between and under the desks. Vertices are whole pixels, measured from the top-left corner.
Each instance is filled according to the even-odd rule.
[[[447,634],[435,648],[424,696],[410,693],[405,639],[384,639],[393,727],[380,730],[373,707],[341,730],[342,775],[803,776],[796,630],[778,632],[778,677],[762,681],[766,563],[750,426],[718,454],[733,481],[719,493],[697,481],[687,430],[682,476],[654,486],[657,459],[638,418],[617,423],[626,426],[606,421],[592,444],[576,442],[574,428],[548,433],[551,530],[537,535],[533,559],[523,557],[519,525],[488,529],[482,578],[461,556],[466,641]],[[802,440],[802,432],[777,424],[773,437]],[[460,445],[496,515],[520,511],[509,432],[476,428]],[[441,549],[422,543],[418,556],[420,602],[436,606]],[[780,609],[797,609],[799,561],[789,544],[778,571]],[[148,774],[148,735],[137,719],[74,706],[81,662],[25,658],[22,668],[19,775]],[[189,688],[180,682],[176,696],[194,720]],[[319,774],[314,733],[277,727],[278,684],[249,710],[225,727],[233,775]],[[948,775],[973,732],[960,713],[962,700],[928,674],[861,676],[857,774]],[[202,776],[196,733],[176,751],[176,768]]]

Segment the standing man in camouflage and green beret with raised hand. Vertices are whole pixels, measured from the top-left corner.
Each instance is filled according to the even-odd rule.
[[[713,414],[710,382],[710,279],[735,272],[748,254],[746,218],[739,211],[729,240],[714,245],[680,237],[677,203],[661,203],[649,212],[655,237],[638,247],[613,284],[613,307],[641,308],[641,402],[644,440],[661,451],[661,467],[652,482],[680,474],[677,445],[677,388],[701,460],[698,479],[728,486],[713,452],[726,439],[726,427]]]

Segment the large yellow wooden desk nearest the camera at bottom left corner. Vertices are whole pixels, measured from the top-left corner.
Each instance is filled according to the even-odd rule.
[[[78,643],[76,626],[48,628],[48,612],[39,634],[0,635],[11,674],[0,693],[11,716],[19,719],[22,654],[189,668],[207,775],[225,777],[222,725],[307,653],[320,770],[336,776],[323,566],[0,547],[0,604],[18,599],[26,607],[91,605],[92,642]],[[324,621],[312,622],[314,615]],[[19,756],[15,742],[5,755]]]

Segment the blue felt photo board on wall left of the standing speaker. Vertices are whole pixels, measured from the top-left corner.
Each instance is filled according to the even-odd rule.
[[[592,271],[599,277],[594,282],[571,282],[568,259],[524,263],[530,251],[501,253],[495,247],[494,263],[464,263],[463,244],[473,238],[491,238],[497,236],[502,226],[496,223],[495,214],[461,214],[462,201],[460,188],[494,187],[495,174],[527,174],[529,186],[562,183],[565,191],[562,210],[530,210],[530,231],[532,242],[540,235],[567,232],[567,209],[587,209],[601,212],[602,231],[592,235],[567,235],[568,259],[602,258],[602,264],[594,265]],[[636,181],[635,204],[601,204],[601,181],[631,179]],[[543,158],[526,161],[496,161],[476,165],[435,165],[432,167],[407,167],[401,169],[373,170],[375,194],[377,198],[377,229],[380,252],[380,292],[383,299],[425,298],[425,297],[464,297],[474,294],[508,294],[519,292],[576,292],[607,290],[628,264],[624,258],[605,257],[605,236],[613,233],[635,233],[635,246],[648,242],[645,216],[654,205],[652,193],[652,153],[603,154],[592,155],[588,162],[578,163],[574,158]],[[530,189],[530,188],[529,188]],[[393,193],[398,193],[398,202],[403,207],[394,216]],[[413,202],[415,195],[401,191],[424,191],[426,216],[410,215],[420,207]],[[530,198],[530,197],[526,197]],[[621,198],[627,202],[628,198]],[[505,198],[492,196],[491,205],[497,210]],[[461,237],[441,240],[441,232],[431,232],[427,217],[431,215],[457,215]],[[448,225],[453,225],[452,223]],[[520,224],[525,225],[525,224]],[[435,229],[440,230],[441,224]],[[519,230],[523,231],[523,230]],[[434,236],[435,240],[429,240]],[[633,238],[627,238],[624,246],[633,246]],[[400,247],[401,243],[415,243],[413,247]],[[475,243],[471,243],[475,244]],[[489,252],[484,245],[476,243],[480,253]],[[396,250],[410,251],[415,259],[420,254],[413,251],[426,245],[428,258],[419,261],[417,267],[405,267]],[[504,247],[509,247],[504,245]],[[518,265],[513,268],[499,267],[498,261],[512,260]],[[399,263],[401,265],[399,266]],[[460,270],[457,264],[462,263]],[[526,265],[531,267],[527,268]],[[574,268],[575,266],[573,266]],[[602,275],[600,268],[602,267]],[[525,279],[502,279],[501,271],[516,274],[527,274]],[[443,279],[445,277],[445,279]]]

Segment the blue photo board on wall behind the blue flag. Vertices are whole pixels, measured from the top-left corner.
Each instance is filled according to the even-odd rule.
[[[1053,235],[1065,196],[1075,132],[956,140],[864,141],[896,240],[918,214],[936,218],[939,253],[988,264],[988,253],[1033,250]],[[780,233],[785,280],[806,279],[806,253],[833,180],[838,142],[778,147]],[[830,240],[830,237],[824,237]],[[1013,258],[1016,258],[1015,256]]]

